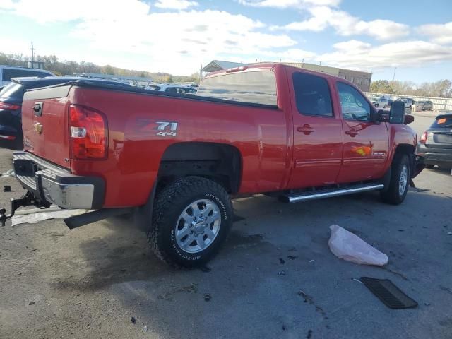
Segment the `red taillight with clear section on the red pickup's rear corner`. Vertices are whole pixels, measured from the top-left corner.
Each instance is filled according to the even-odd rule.
[[[71,105],[69,108],[69,139],[73,159],[106,159],[107,119],[94,109]]]

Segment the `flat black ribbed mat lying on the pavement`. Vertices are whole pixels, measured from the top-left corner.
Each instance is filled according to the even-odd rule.
[[[417,302],[405,295],[391,280],[361,277],[359,280],[391,309],[417,307]]]

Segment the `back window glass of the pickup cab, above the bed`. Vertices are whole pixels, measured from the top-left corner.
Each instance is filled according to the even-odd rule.
[[[196,95],[276,106],[275,73],[251,71],[206,78]]]

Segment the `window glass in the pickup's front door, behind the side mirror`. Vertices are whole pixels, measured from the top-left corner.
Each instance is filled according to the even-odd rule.
[[[337,83],[342,116],[346,120],[370,121],[369,102],[355,88]]]

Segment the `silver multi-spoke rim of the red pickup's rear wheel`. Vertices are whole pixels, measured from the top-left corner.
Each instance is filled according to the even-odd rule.
[[[187,253],[198,253],[210,246],[220,232],[221,213],[209,199],[186,206],[177,220],[175,235],[179,247]]]

